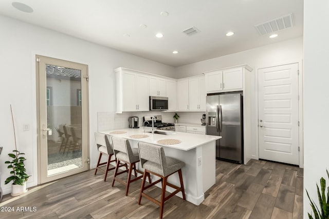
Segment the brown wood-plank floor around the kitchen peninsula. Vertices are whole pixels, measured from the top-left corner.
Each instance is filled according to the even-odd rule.
[[[195,206],[174,196],[165,204],[163,218],[303,218],[303,169],[251,160],[247,165],[216,161],[216,184],[206,200]],[[20,197],[4,196],[0,218],[158,218],[159,207],[142,199],[141,181],[131,184],[129,195],[119,183],[111,187],[94,170],[29,188]],[[160,198],[161,190],[148,189]],[[17,207],[27,207],[17,211]],[[28,209],[30,207],[30,209]],[[36,211],[33,211],[33,207]],[[13,212],[8,212],[14,209]]]

